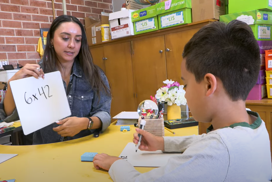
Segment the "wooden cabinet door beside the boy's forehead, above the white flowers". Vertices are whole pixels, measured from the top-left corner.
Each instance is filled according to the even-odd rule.
[[[183,84],[181,80],[182,52],[185,44],[199,29],[195,28],[165,35],[167,79]]]

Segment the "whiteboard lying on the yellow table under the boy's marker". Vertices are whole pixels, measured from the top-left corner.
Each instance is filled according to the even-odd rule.
[[[134,167],[162,167],[170,157],[182,155],[181,153],[163,153],[162,151],[136,152],[135,144],[130,142],[126,145],[119,157],[127,160]]]

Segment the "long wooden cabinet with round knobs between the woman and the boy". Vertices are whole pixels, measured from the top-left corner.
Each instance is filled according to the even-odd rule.
[[[90,46],[94,64],[104,70],[110,82],[112,117],[121,111],[136,111],[138,104],[155,95],[166,79],[183,84],[184,45],[202,26],[214,21],[204,20]]]

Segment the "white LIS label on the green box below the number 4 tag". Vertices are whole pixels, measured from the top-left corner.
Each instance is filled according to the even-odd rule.
[[[168,27],[179,23],[184,23],[183,11],[172,13],[161,17],[162,27]]]

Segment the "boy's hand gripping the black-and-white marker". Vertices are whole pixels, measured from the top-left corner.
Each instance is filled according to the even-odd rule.
[[[141,144],[139,146],[139,149],[141,151],[157,151],[161,150],[164,151],[164,139],[163,137],[156,137],[152,135],[151,133],[141,130],[139,128],[135,129],[139,134],[142,134],[142,140]],[[133,136],[133,143],[138,144],[139,137],[138,133],[134,133]]]

